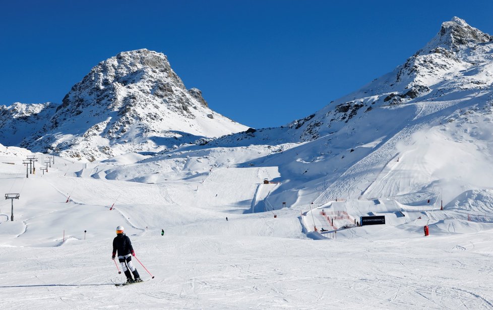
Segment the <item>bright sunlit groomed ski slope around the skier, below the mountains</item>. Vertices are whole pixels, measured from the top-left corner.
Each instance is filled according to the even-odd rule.
[[[221,162],[222,151],[202,166],[187,153],[175,166],[155,163],[168,173],[138,154],[87,164],[55,157],[43,174],[45,154],[2,146],[0,188],[20,194],[14,221],[11,199],[0,204],[2,307],[489,309],[489,189],[452,197],[452,184],[435,181],[430,167],[440,157],[423,149],[447,149],[437,132],[402,146],[373,179],[322,182],[291,197],[273,194],[295,181],[277,167],[211,168],[207,160]],[[454,149],[458,163],[469,154],[463,147]],[[244,148],[227,154],[250,159]],[[28,178],[27,156],[38,160]],[[466,174],[461,184],[474,183]],[[332,225],[327,217],[341,212],[348,218]],[[386,224],[351,225],[368,215]],[[125,281],[111,260],[117,225],[132,240],[144,283],[114,286]]]

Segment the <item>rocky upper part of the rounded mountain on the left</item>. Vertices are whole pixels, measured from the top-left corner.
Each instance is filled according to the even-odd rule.
[[[65,96],[52,128],[88,108],[96,117],[106,115],[107,110],[135,116],[137,108],[145,108],[150,102],[191,119],[195,118],[192,109],[208,108],[202,92],[197,88],[187,90],[164,54],[137,49],[119,53],[92,68]]]

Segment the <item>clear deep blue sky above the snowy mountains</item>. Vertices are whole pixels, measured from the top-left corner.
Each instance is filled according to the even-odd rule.
[[[493,2],[3,1],[0,105],[58,102],[120,51],[168,56],[247,126],[287,124],[403,64],[453,16],[493,34]]]

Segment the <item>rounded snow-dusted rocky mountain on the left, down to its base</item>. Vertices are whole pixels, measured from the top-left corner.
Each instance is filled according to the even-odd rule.
[[[42,108],[24,110],[39,115]],[[13,109],[19,108],[4,108]],[[43,115],[35,134],[17,133],[2,142],[22,137],[22,147],[94,161],[248,129],[212,111],[199,89],[183,85],[165,55],[147,49],[99,63],[72,87],[49,121],[49,113]],[[7,135],[5,129],[0,134]]]

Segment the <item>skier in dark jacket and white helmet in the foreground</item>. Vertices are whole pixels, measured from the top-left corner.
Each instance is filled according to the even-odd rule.
[[[118,250],[118,262],[120,262],[121,269],[127,276],[127,283],[142,282],[137,269],[132,264],[132,256],[135,256],[132,242],[130,242],[130,238],[124,233],[124,230],[123,226],[116,227],[116,237],[113,239],[113,255],[111,259],[114,261],[116,251]],[[135,280],[132,279],[132,273],[130,271],[134,274]]]

